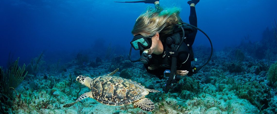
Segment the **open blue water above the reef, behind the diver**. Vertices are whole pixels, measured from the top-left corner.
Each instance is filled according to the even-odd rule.
[[[186,1],[161,0],[160,4],[181,7],[181,18],[188,22]],[[42,51],[49,61],[66,62],[78,51],[99,51],[94,56],[102,56],[110,42],[120,49],[116,53],[128,53],[136,18],[147,6],[153,7],[111,0],[3,0],[0,5],[0,64],[4,67],[9,53],[22,63]],[[271,29],[277,18],[275,0],[206,0],[197,4],[196,13],[198,27],[211,37],[216,50],[238,45],[246,35],[252,41],[261,40],[263,30]],[[194,44],[209,46],[200,32]]]

